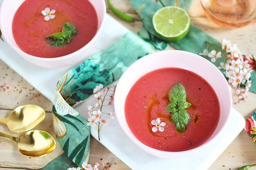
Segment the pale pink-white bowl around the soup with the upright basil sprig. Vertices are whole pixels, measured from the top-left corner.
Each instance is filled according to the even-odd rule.
[[[142,144],[139,140],[137,140],[136,137],[134,137],[125,120],[125,98],[137,79],[155,69],[168,67],[183,68],[197,73],[212,86],[219,99],[220,119],[218,126],[209,140],[194,149],[181,152],[166,152],[152,149],[151,147]],[[230,111],[232,108],[232,97],[226,78],[211,62],[201,56],[186,51],[166,50],[142,57],[134,62],[123,73],[122,77],[117,83],[114,97],[114,108],[117,119],[123,131],[125,131],[128,137],[130,137],[130,139],[141,149],[162,158],[181,158],[197,153],[199,150],[204,149],[207,145],[216,140],[229,120]]]

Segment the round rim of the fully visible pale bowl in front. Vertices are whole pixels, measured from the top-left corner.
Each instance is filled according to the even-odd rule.
[[[184,155],[191,155],[191,154],[195,154],[196,152],[198,152],[199,150],[202,150],[204,148],[206,148],[207,146],[209,146],[210,144],[212,144],[216,138],[219,137],[219,135],[222,133],[222,131],[224,130],[224,128],[226,128],[227,126],[227,123],[230,119],[230,113],[231,113],[231,109],[232,109],[232,95],[231,95],[231,91],[229,90],[228,93],[229,93],[229,105],[227,105],[227,110],[228,110],[228,115],[227,115],[227,118],[224,122],[224,125],[219,129],[219,131],[213,136],[213,137],[210,137],[205,143],[201,144],[200,146],[198,147],[195,147],[193,149],[189,149],[189,150],[184,150],[184,151],[178,151],[178,152],[169,152],[169,151],[162,151],[162,150],[157,150],[157,149],[153,149],[149,146],[146,146],[145,144],[141,143],[133,134],[132,132],[130,131],[129,128],[125,128],[124,125],[122,124],[121,120],[120,120],[120,117],[119,117],[119,108],[118,108],[118,103],[120,102],[121,99],[119,99],[117,93],[119,92],[119,88],[121,88],[120,82],[122,81],[125,81],[125,76],[126,74],[128,74],[127,72],[129,72],[129,70],[131,68],[133,68],[134,65],[137,65],[137,63],[139,62],[143,62],[143,60],[150,60],[151,57],[155,56],[155,55],[158,55],[160,53],[163,53],[163,54],[186,54],[186,55],[192,55],[194,57],[197,57],[197,58],[200,58],[201,60],[203,60],[204,62],[208,63],[209,65],[213,66],[213,68],[215,68],[216,70],[216,73],[218,73],[224,84],[226,85],[226,89],[229,89],[229,84],[226,80],[226,78],[224,77],[224,75],[221,73],[221,71],[219,71],[219,69],[213,65],[213,63],[211,63],[209,60],[205,59],[204,57],[201,57],[197,54],[194,54],[194,53],[190,53],[190,52],[187,52],[187,51],[181,51],[181,50],[164,50],[164,51],[157,51],[155,53],[151,53],[151,54],[148,54],[147,56],[144,56],[140,59],[138,59],[136,62],[134,62],[132,65],[129,66],[128,69],[126,69],[126,71],[122,74],[122,76],[120,77],[119,81],[117,82],[117,86],[116,86],[116,92],[115,92],[115,98],[114,98],[114,109],[115,109],[115,112],[116,112],[116,117],[117,117],[117,120],[120,124],[120,126],[122,127],[123,131],[125,131],[125,134],[128,135],[128,137],[137,145],[139,146],[142,150],[148,152],[148,150],[151,150],[152,152],[150,153],[151,155],[154,155],[154,156],[158,156],[158,157],[162,157],[162,158],[178,158],[178,157],[186,157]],[[163,68],[166,68],[166,67],[163,67]],[[150,71],[153,71],[155,69],[151,69]],[[146,71],[144,74],[150,72],[150,71]],[[192,71],[193,72],[193,71]],[[141,75],[142,76],[142,75]],[[139,76],[139,77],[141,77]],[[137,78],[136,78],[137,80]],[[136,82],[136,81],[135,81]],[[135,83],[133,82],[133,84]],[[133,84],[131,86],[133,86]],[[131,88],[130,86],[130,88]],[[130,89],[128,90],[128,92],[130,91]],[[127,95],[127,93],[126,93]],[[125,99],[123,99],[123,101],[125,101]],[[123,111],[124,112],[124,111]],[[121,114],[124,114],[124,113],[121,113]],[[126,123],[127,125],[127,123]],[[127,125],[128,126],[128,125]],[[215,129],[216,131],[216,129]],[[214,132],[215,133],[215,132]],[[149,153],[149,152],[148,152]]]

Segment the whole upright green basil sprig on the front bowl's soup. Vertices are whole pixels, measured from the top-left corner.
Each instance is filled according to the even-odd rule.
[[[190,120],[189,113],[185,108],[191,104],[186,102],[186,90],[181,83],[176,83],[169,92],[169,101],[171,104],[166,106],[167,111],[171,112],[171,120],[175,123],[178,132],[186,129],[186,125]]]

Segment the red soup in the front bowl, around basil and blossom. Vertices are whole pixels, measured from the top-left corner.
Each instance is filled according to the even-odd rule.
[[[178,132],[166,106],[168,93],[175,83],[186,89],[186,108],[190,121]],[[163,68],[143,75],[131,87],[125,100],[125,118],[131,132],[143,144],[158,150],[184,151],[206,142],[215,131],[220,117],[218,98],[206,80],[180,68]],[[153,132],[152,120],[160,118],[164,131]]]

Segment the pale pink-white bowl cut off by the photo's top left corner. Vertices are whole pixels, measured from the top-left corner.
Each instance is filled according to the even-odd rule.
[[[94,6],[96,13],[98,15],[98,32],[94,36],[91,41],[72,54],[56,57],[56,58],[41,58],[31,56],[29,54],[24,53],[20,50],[18,45],[15,43],[14,38],[12,36],[12,19],[18,7],[24,2],[24,0],[3,0],[3,3],[0,8],[0,27],[3,34],[3,37],[8,42],[8,44],[22,56],[24,59],[33,63],[37,66],[41,66],[44,68],[62,68],[66,66],[75,65],[83,62],[87,59],[87,55],[90,51],[95,47],[99,36],[102,32],[105,17],[106,17],[106,5],[104,0],[89,0],[91,4]]]

